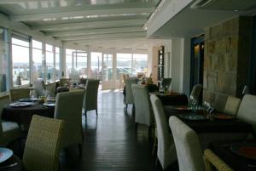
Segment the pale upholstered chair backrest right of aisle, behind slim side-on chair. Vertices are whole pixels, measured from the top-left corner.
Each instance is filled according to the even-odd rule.
[[[150,126],[153,113],[148,89],[147,87],[138,84],[132,84],[131,88],[135,105],[135,123],[142,123]]]

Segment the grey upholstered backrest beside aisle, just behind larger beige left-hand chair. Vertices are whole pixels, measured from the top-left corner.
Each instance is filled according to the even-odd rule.
[[[88,79],[85,84],[84,111],[96,110],[100,80]]]

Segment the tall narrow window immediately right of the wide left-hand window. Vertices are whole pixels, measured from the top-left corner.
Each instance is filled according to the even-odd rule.
[[[43,43],[32,40],[32,83],[44,78]]]

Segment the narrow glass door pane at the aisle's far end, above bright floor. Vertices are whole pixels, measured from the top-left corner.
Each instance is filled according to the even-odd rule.
[[[102,81],[113,79],[113,54],[103,54]]]

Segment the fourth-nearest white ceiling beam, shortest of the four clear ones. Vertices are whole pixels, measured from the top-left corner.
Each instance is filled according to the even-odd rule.
[[[57,39],[61,41],[77,41],[77,40],[102,39],[102,38],[113,38],[113,37],[146,37],[146,35],[147,35],[146,31],[138,31],[138,32],[113,33],[113,34],[57,37]]]

